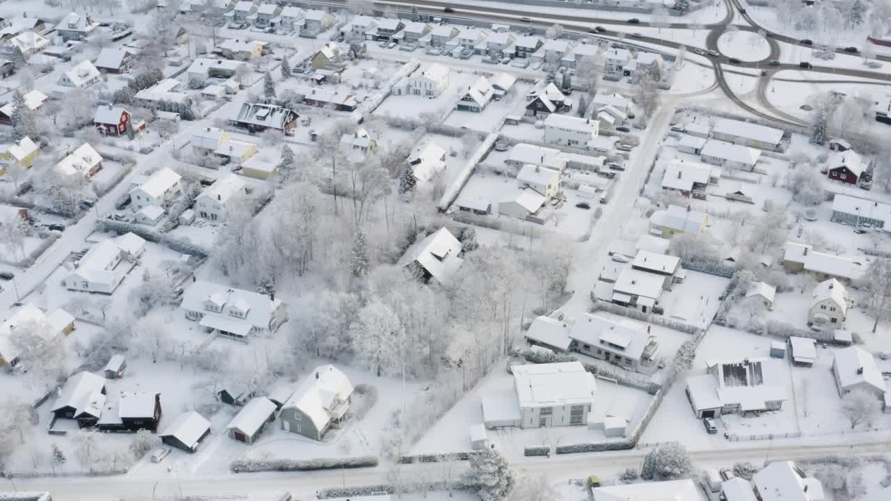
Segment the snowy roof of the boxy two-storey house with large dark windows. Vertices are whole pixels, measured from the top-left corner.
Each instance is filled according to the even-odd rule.
[[[592,405],[597,388],[580,362],[512,367],[519,407]]]

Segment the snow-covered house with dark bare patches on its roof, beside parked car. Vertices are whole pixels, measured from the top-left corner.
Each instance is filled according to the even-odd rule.
[[[687,398],[696,417],[722,414],[760,414],[780,410],[786,382],[772,358],[707,361],[706,374],[687,378]]]

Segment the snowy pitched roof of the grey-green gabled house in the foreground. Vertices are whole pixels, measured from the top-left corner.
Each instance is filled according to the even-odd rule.
[[[338,402],[347,400],[352,393],[353,384],[347,374],[334,365],[322,365],[298,384],[282,409],[300,410],[315,424],[316,430],[323,430]]]

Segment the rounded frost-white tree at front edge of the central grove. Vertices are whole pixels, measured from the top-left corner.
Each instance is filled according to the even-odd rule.
[[[349,337],[353,352],[377,374],[396,374],[404,360],[403,327],[393,310],[378,299],[372,299],[359,310],[356,322],[350,325]]]

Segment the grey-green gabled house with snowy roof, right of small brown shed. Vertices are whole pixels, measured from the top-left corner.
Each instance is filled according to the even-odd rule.
[[[322,365],[300,382],[282,406],[282,430],[321,441],[349,417],[353,383],[334,365]]]

